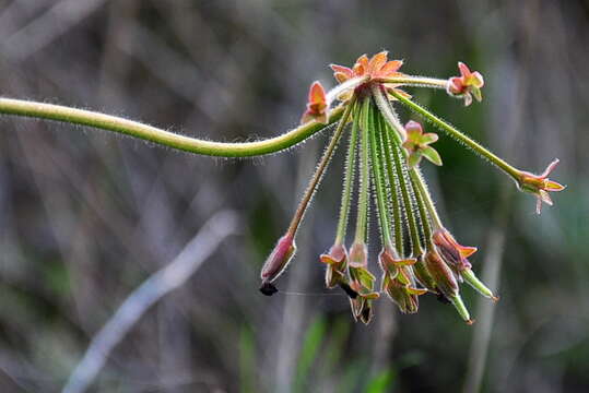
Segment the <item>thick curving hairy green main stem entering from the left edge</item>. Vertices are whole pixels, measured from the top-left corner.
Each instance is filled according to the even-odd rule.
[[[219,157],[251,157],[292,147],[310,135],[321,131],[327,126],[338,121],[343,115],[344,107],[345,105],[340,105],[330,110],[328,124],[311,121],[275,138],[257,142],[225,143],[178,135],[138,121],[91,110],[21,99],[0,98],[0,114],[89,126],[139,138],[189,153]]]

